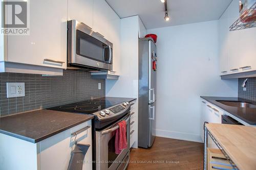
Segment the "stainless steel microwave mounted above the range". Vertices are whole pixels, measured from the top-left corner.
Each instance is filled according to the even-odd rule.
[[[68,21],[68,68],[112,70],[113,44],[76,20]]]

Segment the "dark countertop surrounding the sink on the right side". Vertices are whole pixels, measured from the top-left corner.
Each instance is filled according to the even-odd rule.
[[[226,98],[226,97],[214,97],[214,96],[200,96],[202,99],[207,102],[214,104],[215,106],[225,110],[226,112],[238,117],[244,122],[250,125],[256,125],[256,109],[255,108],[242,108],[242,107],[233,107],[227,106],[217,102],[218,100],[222,101],[241,101],[247,102],[256,105],[256,102],[241,99],[241,98]]]

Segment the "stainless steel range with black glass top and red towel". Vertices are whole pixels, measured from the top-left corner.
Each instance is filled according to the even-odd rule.
[[[70,113],[93,114],[93,160],[96,170],[126,169],[130,159],[130,103],[122,98],[98,98],[49,108]],[[127,149],[115,154],[118,123],[126,122]]]

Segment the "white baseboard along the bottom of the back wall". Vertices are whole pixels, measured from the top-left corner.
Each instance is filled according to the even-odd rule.
[[[184,132],[175,132],[175,131],[166,131],[166,130],[156,129],[156,136],[172,138],[172,139],[188,140],[188,141],[194,141],[194,142],[201,142],[201,143],[203,142],[200,135],[192,134],[192,133],[184,133]]]

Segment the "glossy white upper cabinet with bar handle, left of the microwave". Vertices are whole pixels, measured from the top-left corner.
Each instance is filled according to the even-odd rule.
[[[30,35],[8,36],[5,61],[67,67],[67,0],[28,1]]]

